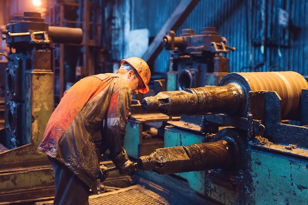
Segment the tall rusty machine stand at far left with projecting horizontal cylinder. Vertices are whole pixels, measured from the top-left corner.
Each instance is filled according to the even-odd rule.
[[[2,30],[10,48],[5,69],[5,127],[0,130],[0,204],[54,195],[47,156],[36,150],[53,112],[53,43],[81,43],[82,30],[50,27],[40,13],[15,16]],[[0,144],[0,145],[1,145]]]

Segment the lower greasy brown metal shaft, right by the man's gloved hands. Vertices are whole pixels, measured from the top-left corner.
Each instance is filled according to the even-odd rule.
[[[137,159],[142,171],[154,171],[160,175],[230,168],[236,165],[238,149],[229,139],[189,146],[173,146],[155,149],[150,155]]]

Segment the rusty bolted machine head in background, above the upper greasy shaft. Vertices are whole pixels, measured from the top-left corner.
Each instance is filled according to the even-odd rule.
[[[161,41],[170,50],[167,90],[183,90],[200,86],[216,86],[229,72],[226,57],[234,47],[218,35],[215,27],[203,27],[199,34],[193,29],[182,29],[180,36],[170,30]]]

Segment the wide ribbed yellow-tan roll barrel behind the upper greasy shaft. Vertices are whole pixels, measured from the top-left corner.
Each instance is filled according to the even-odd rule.
[[[240,85],[246,96],[249,91],[276,91],[281,98],[281,117],[284,119],[298,118],[302,89],[308,88],[304,76],[294,71],[230,73],[219,85],[230,83]]]

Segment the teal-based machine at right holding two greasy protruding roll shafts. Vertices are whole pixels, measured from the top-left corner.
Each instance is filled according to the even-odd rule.
[[[138,167],[179,173],[224,205],[306,203],[307,88],[293,71],[247,72],[229,73],[218,86],[145,97],[145,111],[186,121],[168,121],[165,147],[139,157]],[[186,116],[201,120],[189,123]]]

